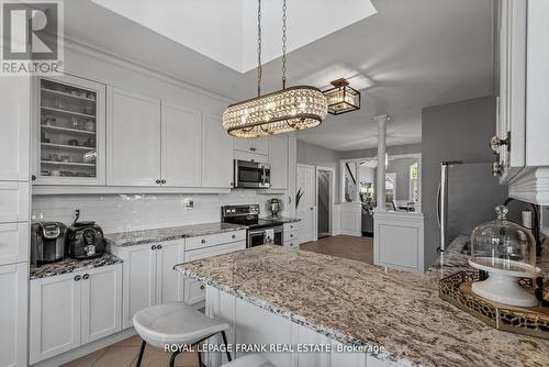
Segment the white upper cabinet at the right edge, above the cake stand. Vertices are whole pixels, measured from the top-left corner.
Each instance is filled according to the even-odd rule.
[[[549,204],[549,2],[498,4],[496,168],[511,197]]]

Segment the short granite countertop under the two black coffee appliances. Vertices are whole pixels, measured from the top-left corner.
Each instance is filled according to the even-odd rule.
[[[109,266],[119,263],[122,263],[122,259],[109,253],[105,253],[100,257],[91,258],[88,260],[77,260],[74,258],[66,258],[57,263],[44,264],[42,266],[31,265],[30,279],[33,280],[40,278],[54,277],[66,273],[99,268],[102,266]]]

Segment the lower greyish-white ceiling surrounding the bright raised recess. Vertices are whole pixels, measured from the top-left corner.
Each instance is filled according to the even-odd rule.
[[[288,1],[291,9],[304,0]],[[311,8],[314,9],[311,18],[318,11],[318,2]],[[68,37],[231,99],[255,94],[256,70],[236,71],[205,56],[205,52],[183,46],[90,0],[65,3]],[[360,111],[328,115],[320,127],[300,132],[300,140],[336,151],[374,147],[377,126],[371,118],[389,113],[392,121],[388,124],[388,145],[415,144],[422,140],[422,108],[492,93],[493,0],[372,0],[372,3],[377,14],[289,54],[290,85],[307,82],[323,87],[329,80],[358,75],[351,79],[352,85],[369,86],[362,92]],[[217,0],[216,4],[215,11],[206,13],[200,12],[200,7],[193,8],[193,14],[212,27],[209,32],[226,37],[229,31],[223,25],[217,26],[215,20],[239,13],[239,1]],[[277,13],[273,19],[278,20],[279,15]],[[169,14],[164,12],[157,12],[155,16],[160,21],[165,16],[169,19]],[[264,14],[264,21],[266,16],[270,15]],[[255,22],[255,18],[250,21]],[[290,18],[289,40],[298,36],[294,34],[295,26],[291,24]],[[201,32],[193,30],[190,34],[200,40]],[[255,32],[246,34],[251,38],[256,36]],[[247,47],[255,51],[255,44]],[[280,58],[276,58],[264,65],[262,90],[267,92],[279,88]]]

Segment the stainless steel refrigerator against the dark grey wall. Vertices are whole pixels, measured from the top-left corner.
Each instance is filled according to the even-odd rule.
[[[495,219],[494,208],[507,199],[507,186],[492,176],[491,162],[442,162],[438,186],[439,249],[458,235]]]

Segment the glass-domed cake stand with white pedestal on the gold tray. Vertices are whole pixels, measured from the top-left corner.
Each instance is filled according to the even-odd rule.
[[[489,277],[471,286],[473,293],[500,303],[535,307],[536,297],[518,283],[518,278],[536,278],[536,241],[524,226],[507,220],[507,207],[495,208],[497,219],[474,229],[469,265],[488,271]]]

